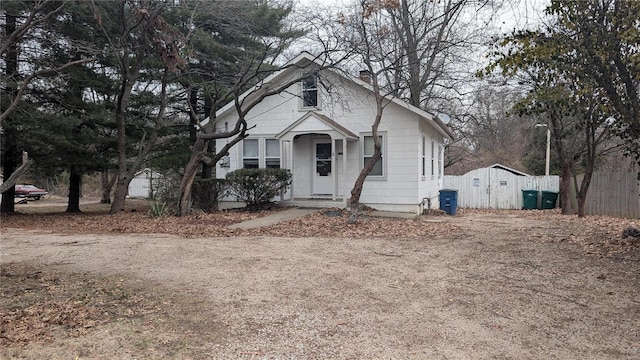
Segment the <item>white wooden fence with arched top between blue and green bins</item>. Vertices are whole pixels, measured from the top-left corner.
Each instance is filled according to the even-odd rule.
[[[522,190],[558,192],[560,178],[529,176],[504,168],[488,167],[460,176],[445,175],[443,188],[458,190],[457,205],[461,208],[522,209]]]

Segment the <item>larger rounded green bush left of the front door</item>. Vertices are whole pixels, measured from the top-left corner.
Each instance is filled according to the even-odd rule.
[[[227,174],[229,194],[244,201],[249,210],[259,210],[291,184],[287,169],[238,169]]]

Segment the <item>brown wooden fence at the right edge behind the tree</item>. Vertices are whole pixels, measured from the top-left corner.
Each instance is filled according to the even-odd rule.
[[[583,176],[578,176],[578,184]],[[571,201],[577,209],[576,190],[571,184]],[[640,219],[640,181],[635,172],[595,172],[587,192],[587,215],[609,215]]]

